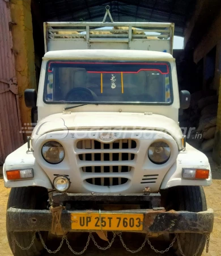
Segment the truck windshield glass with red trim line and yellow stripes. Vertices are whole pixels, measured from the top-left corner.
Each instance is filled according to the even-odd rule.
[[[49,61],[44,101],[82,104],[171,104],[169,65],[162,62]]]

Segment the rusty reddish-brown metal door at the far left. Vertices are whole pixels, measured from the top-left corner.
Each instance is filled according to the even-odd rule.
[[[0,164],[23,143],[10,26],[9,3],[0,0]]]

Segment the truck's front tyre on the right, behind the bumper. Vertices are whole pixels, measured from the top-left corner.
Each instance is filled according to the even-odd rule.
[[[172,199],[172,209],[187,210],[188,212],[202,212],[207,210],[206,197],[202,187],[180,186],[169,189],[169,197]],[[171,236],[171,238],[173,238]],[[193,256],[202,240],[199,252],[196,256],[202,255],[206,243],[206,236],[198,233],[180,233],[179,240],[182,252],[185,256]],[[181,256],[177,241],[173,245],[175,254]]]

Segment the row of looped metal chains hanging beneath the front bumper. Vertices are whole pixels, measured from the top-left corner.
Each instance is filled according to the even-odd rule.
[[[155,253],[163,254],[163,253],[166,253],[167,251],[169,251],[169,249],[171,249],[171,247],[173,246],[173,244],[174,244],[175,241],[177,240],[177,245],[178,245],[178,247],[179,247],[180,253],[181,253],[182,256],[185,256],[185,254],[182,252],[182,248],[181,248],[181,244],[180,244],[180,239],[179,239],[179,234],[175,234],[175,237],[173,238],[172,242],[171,242],[170,245],[167,247],[167,249],[159,251],[159,250],[155,249],[154,246],[151,245],[151,242],[150,242],[148,236],[145,237],[145,241],[142,243],[141,247],[139,247],[137,250],[130,250],[130,249],[125,245],[124,240],[123,240],[123,238],[122,238],[122,233],[121,233],[121,232],[113,232],[113,238],[112,238],[111,242],[109,242],[109,245],[108,245],[107,247],[101,247],[101,246],[99,246],[99,245],[97,244],[97,242],[95,241],[94,236],[93,236],[92,233],[90,232],[89,235],[88,235],[88,239],[87,239],[87,242],[86,242],[86,246],[84,246],[84,249],[83,249],[82,251],[79,251],[79,252],[78,252],[78,251],[74,251],[74,250],[72,249],[72,247],[70,246],[69,241],[67,240],[67,236],[66,236],[66,235],[64,235],[64,236],[62,237],[61,243],[60,243],[60,245],[58,246],[58,248],[57,248],[56,250],[52,251],[52,250],[48,249],[48,247],[45,245],[45,242],[44,242],[44,240],[43,240],[43,238],[42,238],[42,236],[41,236],[41,233],[40,233],[40,232],[37,232],[37,233],[39,234],[41,243],[42,243],[42,245],[44,246],[45,250],[48,251],[48,253],[54,253],[54,254],[57,253],[57,252],[61,249],[61,247],[62,247],[64,241],[66,241],[66,244],[67,244],[67,246],[69,247],[70,251],[71,251],[73,254],[75,254],[75,255],[83,254],[84,251],[87,250],[87,247],[88,247],[88,245],[89,245],[89,243],[90,243],[90,240],[92,240],[92,241],[94,242],[95,246],[97,246],[98,249],[100,249],[100,250],[107,250],[107,249],[109,249],[109,248],[112,246],[112,244],[113,244],[113,242],[114,242],[114,240],[115,240],[115,238],[116,238],[116,235],[117,235],[118,237],[120,237],[120,241],[121,241],[122,245],[123,245],[123,246],[125,247],[125,249],[126,249],[127,251],[129,251],[130,253],[137,253],[138,251],[141,251],[141,250],[143,249],[143,247],[145,246],[146,242],[147,242],[148,245],[150,245],[151,249],[155,251]],[[30,245],[27,246],[27,247],[23,247],[23,246],[21,246],[21,245],[19,244],[19,242],[16,240],[16,238],[15,238],[15,236],[14,236],[14,233],[12,233],[12,252],[15,253],[15,244],[16,244],[20,249],[22,249],[22,250],[28,250],[28,249],[30,249],[31,246],[33,245],[34,241],[35,241],[35,237],[36,237],[36,232],[33,233],[32,241],[31,241]],[[197,256],[199,250],[201,249],[201,246],[202,246],[202,243],[203,243],[203,240],[204,240],[204,239],[205,239],[205,236],[202,236],[202,239],[201,239],[201,242],[199,243],[198,249],[197,249],[196,253],[195,253],[193,256]],[[210,234],[206,234],[206,253],[208,253],[208,251],[209,251],[209,242],[210,242]]]

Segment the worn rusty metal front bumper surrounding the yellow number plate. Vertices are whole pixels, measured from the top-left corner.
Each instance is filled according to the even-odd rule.
[[[63,210],[61,225],[67,232],[97,232],[97,230],[71,229],[71,213],[98,213],[97,210]],[[170,210],[113,210],[102,213],[142,213],[144,214],[142,233],[205,233],[213,230],[214,213],[212,209],[205,212],[176,212]],[[50,231],[52,228],[52,213],[50,210],[25,210],[9,208],[7,210],[8,230],[14,232]],[[113,230],[114,231],[114,230]]]

